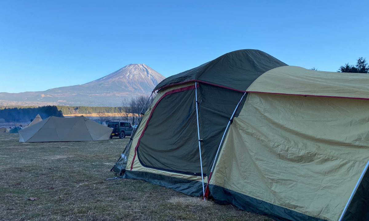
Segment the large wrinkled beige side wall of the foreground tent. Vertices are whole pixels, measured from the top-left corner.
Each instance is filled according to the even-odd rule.
[[[369,101],[249,93],[211,184],[338,221],[369,156]]]

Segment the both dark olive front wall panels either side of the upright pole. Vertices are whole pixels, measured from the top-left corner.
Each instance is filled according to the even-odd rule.
[[[202,166],[207,174],[243,93],[204,83],[198,85]],[[141,164],[149,168],[200,175],[198,145],[195,89],[191,89],[169,94],[155,105],[137,155]]]

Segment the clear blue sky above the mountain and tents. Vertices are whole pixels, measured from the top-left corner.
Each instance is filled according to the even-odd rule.
[[[336,71],[369,59],[369,1],[1,1],[0,92],[83,84],[130,63],[168,77],[238,49]]]

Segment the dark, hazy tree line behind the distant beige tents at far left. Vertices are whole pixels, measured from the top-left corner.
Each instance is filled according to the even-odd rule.
[[[49,116],[63,117],[56,106],[0,106],[0,123],[30,122],[38,114],[42,119]]]

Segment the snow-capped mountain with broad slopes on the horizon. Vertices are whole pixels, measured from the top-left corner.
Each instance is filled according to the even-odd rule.
[[[82,85],[36,92],[2,92],[0,105],[120,106],[123,98],[151,94],[164,78],[146,64],[129,64]]]

